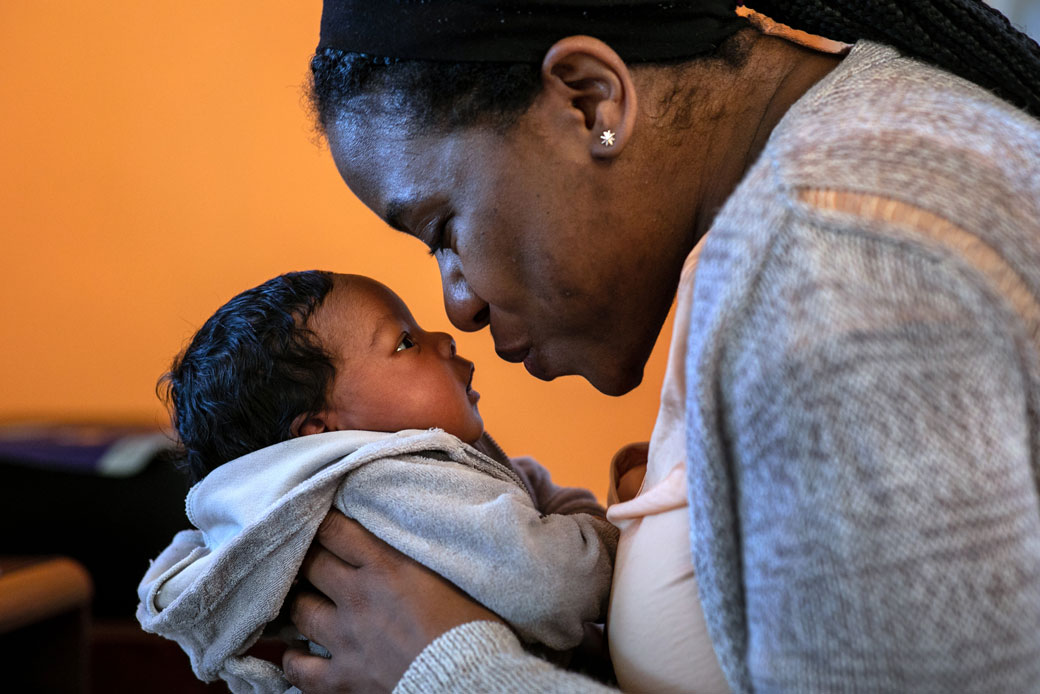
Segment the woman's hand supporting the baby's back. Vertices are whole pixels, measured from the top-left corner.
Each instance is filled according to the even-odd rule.
[[[301,575],[323,595],[301,593],[290,616],[332,658],[289,650],[282,659],[286,678],[307,694],[389,692],[441,634],[501,621],[338,511],[321,521],[316,540]]]

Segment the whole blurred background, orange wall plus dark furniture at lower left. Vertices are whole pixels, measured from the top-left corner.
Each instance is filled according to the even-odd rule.
[[[993,4],[1040,30],[1040,2]],[[352,196],[315,135],[320,9],[0,3],[0,649],[28,675],[71,673],[25,691],[196,691],[179,649],[131,617],[148,559],[187,523],[186,485],[154,455],[168,442],[155,384],[213,310],[270,277],[394,288],[476,363],[489,431],[558,483],[605,498],[614,452],[649,438],[667,344],[613,399],[536,381],[487,332],[451,329],[436,263]],[[24,558],[47,554],[87,571]]]

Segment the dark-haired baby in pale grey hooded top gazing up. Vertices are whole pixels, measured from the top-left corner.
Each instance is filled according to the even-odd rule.
[[[146,631],[233,692],[289,689],[246,650],[336,508],[535,648],[605,616],[617,530],[587,491],[484,433],[473,364],[374,280],[290,273],[210,317],[163,377],[197,484],[139,588]]]

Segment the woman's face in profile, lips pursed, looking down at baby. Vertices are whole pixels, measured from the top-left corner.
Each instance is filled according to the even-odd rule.
[[[540,379],[621,394],[642,380],[678,265],[657,262],[652,195],[541,123],[408,136],[348,115],[329,140],[362,202],[431,248],[452,324],[489,327],[499,356]]]

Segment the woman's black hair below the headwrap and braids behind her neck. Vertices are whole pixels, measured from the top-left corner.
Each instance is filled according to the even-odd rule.
[[[1040,118],[1040,46],[982,0],[755,0],[777,22],[828,38],[887,44],[993,91]],[[717,55],[733,52],[736,34]],[[382,89],[397,112],[423,126],[506,128],[534,102],[541,67],[433,62],[319,49],[311,59],[311,104],[327,131],[353,98]]]

